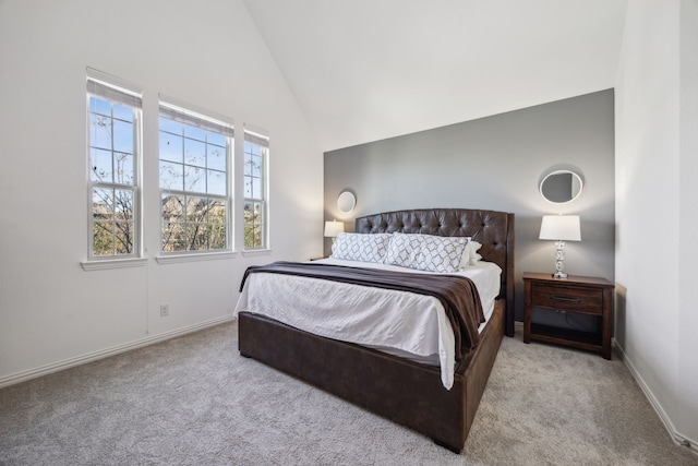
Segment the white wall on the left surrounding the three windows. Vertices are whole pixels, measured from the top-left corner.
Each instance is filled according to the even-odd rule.
[[[322,153],[240,0],[1,0],[0,67],[0,385],[228,319],[248,265],[322,252]],[[142,267],[80,265],[86,67],[144,89]],[[269,131],[273,252],[155,261],[158,93]]]

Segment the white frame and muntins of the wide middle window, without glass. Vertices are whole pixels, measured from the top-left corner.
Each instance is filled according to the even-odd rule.
[[[185,179],[185,172],[186,172],[186,167],[195,167],[198,169],[203,169],[204,172],[208,172],[208,171],[221,171],[221,170],[215,170],[215,169],[210,169],[208,166],[208,145],[209,143],[206,141],[204,141],[204,145],[206,147],[205,153],[206,156],[205,158],[205,166],[194,166],[191,164],[186,164],[186,160],[184,159],[185,156],[185,150],[184,146],[182,146],[182,160],[180,162],[174,162],[174,160],[168,160],[168,159],[163,159],[161,158],[161,152],[160,152],[160,143],[158,142],[158,201],[160,203],[160,207],[159,207],[159,212],[158,212],[158,238],[159,238],[159,246],[158,246],[158,254],[160,255],[160,259],[166,259],[166,258],[177,258],[177,256],[194,256],[194,255],[209,255],[209,254],[227,254],[233,251],[233,215],[234,215],[234,203],[233,203],[233,154],[234,154],[234,127],[231,120],[229,120],[226,117],[221,117],[221,116],[216,116],[215,113],[208,111],[208,110],[203,110],[200,108],[196,108],[193,105],[190,104],[185,104],[185,103],[181,103],[177,99],[173,99],[171,97],[167,97],[160,94],[159,96],[159,107],[158,107],[158,141],[160,141],[160,139],[163,138],[163,133],[176,136],[176,138],[181,138],[182,139],[182,144],[185,143],[186,140],[190,141],[197,141],[197,142],[202,142],[201,140],[193,140],[188,138],[184,132],[182,134],[177,134],[177,133],[172,133],[170,131],[166,131],[163,130],[161,124],[160,124],[160,119],[165,118],[167,120],[173,121],[176,123],[179,123],[181,126],[183,126],[182,130],[185,132],[185,127],[190,127],[191,129],[198,129],[205,132],[213,132],[213,133],[217,133],[219,135],[221,135],[222,138],[225,138],[225,177],[226,177],[226,181],[225,181],[225,187],[226,187],[226,192],[225,194],[215,194],[215,193],[210,193],[208,192],[208,181],[206,181],[206,192],[200,192],[200,191],[193,191],[193,190],[189,190],[186,189],[186,187],[183,184],[184,183],[184,179]],[[216,145],[216,144],[210,144],[210,145]],[[216,145],[218,147],[222,147],[220,145]],[[182,187],[181,189],[172,189],[171,187],[166,187],[163,188],[163,180],[161,180],[161,167],[163,167],[163,163],[166,164],[171,164],[171,165],[181,165],[182,167]],[[169,224],[171,222],[166,222],[165,220],[165,215],[164,215],[164,204],[163,204],[163,200],[165,199],[166,195],[171,195],[171,196],[181,196],[184,200],[186,200],[188,198],[198,198],[198,199],[206,199],[206,200],[220,200],[222,202],[225,202],[225,222],[221,224],[224,225],[225,228],[225,247],[224,248],[216,248],[216,249],[210,249],[209,247],[207,247],[206,249],[181,249],[181,250],[165,250],[164,248],[164,231],[165,231],[165,227],[166,224]],[[181,218],[182,220],[179,222],[179,224],[181,224],[180,226],[184,229],[184,231],[186,230],[186,226],[188,225],[207,225],[207,226],[212,226],[210,222],[189,222],[186,219],[188,214],[186,214],[186,207],[185,207],[186,201],[184,201],[184,206],[183,206],[183,211],[181,212]],[[209,211],[207,211],[206,214],[208,214]],[[220,224],[218,224],[220,225]],[[209,238],[208,238],[209,240]],[[189,240],[185,239],[185,243],[184,246],[186,247],[189,243]]]

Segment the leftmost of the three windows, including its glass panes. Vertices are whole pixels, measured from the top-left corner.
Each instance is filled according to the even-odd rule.
[[[141,93],[87,76],[89,260],[141,255]]]

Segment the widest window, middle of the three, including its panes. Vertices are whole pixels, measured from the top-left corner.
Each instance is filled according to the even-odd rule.
[[[165,253],[230,249],[232,126],[160,101],[160,244]]]

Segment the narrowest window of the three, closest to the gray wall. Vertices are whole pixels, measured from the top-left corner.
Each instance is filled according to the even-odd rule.
[[[266,249],[266,164],[269,138],[244,130],[244,249]]]

